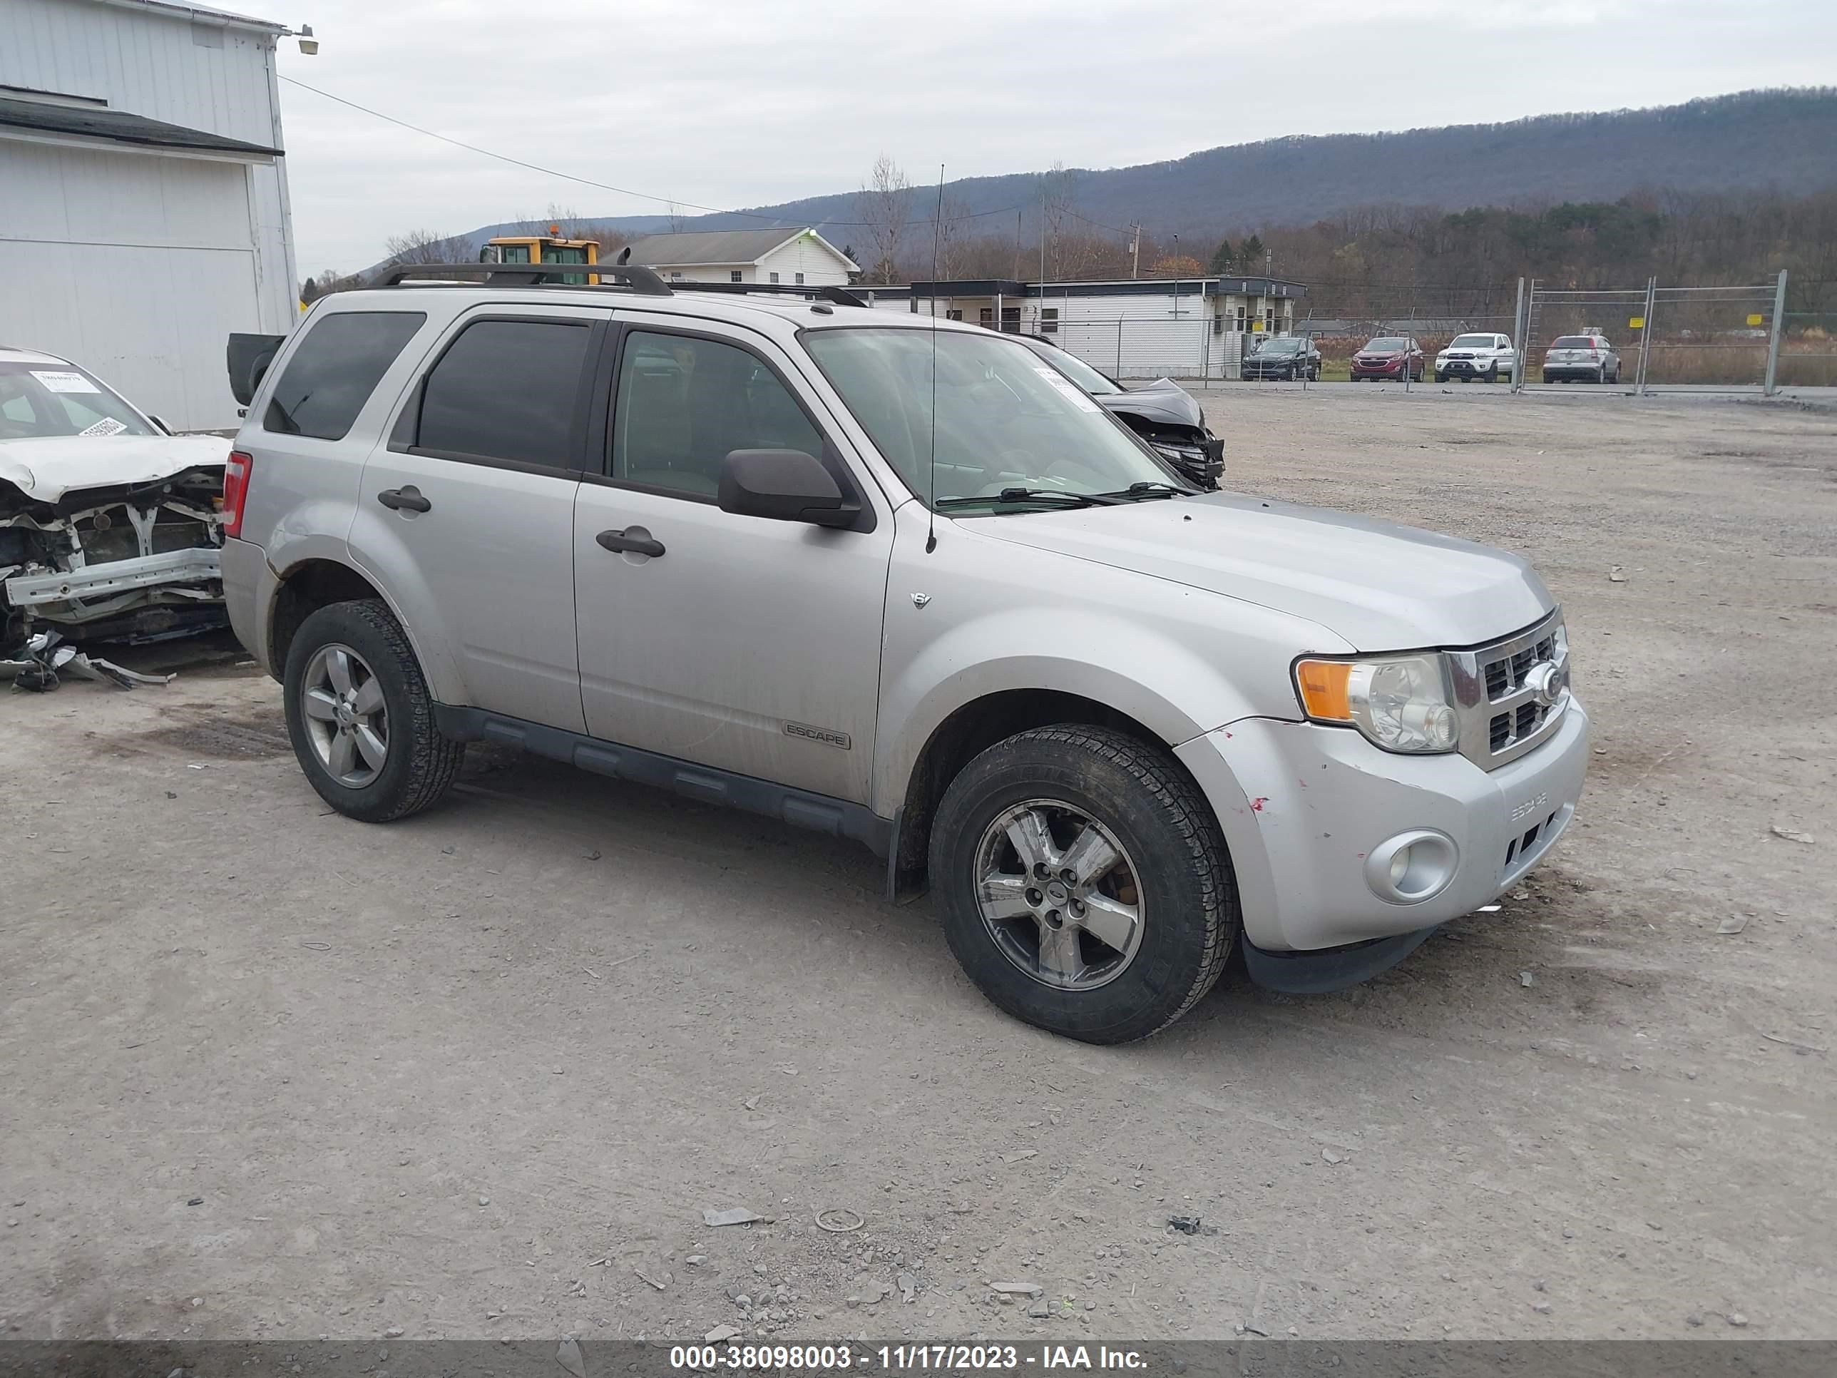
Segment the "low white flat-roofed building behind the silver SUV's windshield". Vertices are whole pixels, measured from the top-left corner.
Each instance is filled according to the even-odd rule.
[[[977,279],[854,292],[882,311],[937,311],[992,331],[1038,334],[1113,378],[1236,378],[1257,336],[1301,329],[1295,303],[1308,288],[1282,277],[1189,277]]]

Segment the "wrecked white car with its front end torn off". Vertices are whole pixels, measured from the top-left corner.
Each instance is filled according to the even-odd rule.
[[[66,358],[0,347],[0,656],[222,627],[228,454]]]

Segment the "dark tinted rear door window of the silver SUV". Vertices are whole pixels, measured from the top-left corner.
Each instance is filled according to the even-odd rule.
[[[415,448],[573,469],[590,334],[584,322],[472,322],[428,373]]]

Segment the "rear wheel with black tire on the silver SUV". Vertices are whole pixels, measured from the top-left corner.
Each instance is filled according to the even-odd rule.
[[[378,707],[360,718],[371,729],[367,744],[362,728],[347,733],[342,718],[321,711],[309,715],[309,700],[331,707],[332,695],[338,693],[340,656],[344,676],[356,695],[347,706],[349,717],[358,718],[362,691],[375,683],[371,702],[378,702]],[[281,683],[287,735],[299,768],[320,797],[340,814],[364,823],[391,823],[419,814],[446,794],[465,746],[448,740],[435,728],[434,695],[428,693],[406,632],[386,603],[332,603],[307,617],[287,649]],[[340,764],[336,740],[345,735],[353,739],[344,755],[351,770],[340,777],[334,772]],[[369,753],[378,737],[384,748],[380,766]]]

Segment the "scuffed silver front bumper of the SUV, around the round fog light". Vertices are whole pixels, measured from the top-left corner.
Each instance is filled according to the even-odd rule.
[[[1433,928],[1516,884],[1574,816],[1589,718],[1571,700],[1547,742],[1497,770],[1275,718],[1227,724],[1176,755],[1225,832],[1244,935],[1264,952],[1313,952]],[[1380,898],[1367,858],[1416,829],[1453,843],[1453,878],[1413,904]]]

